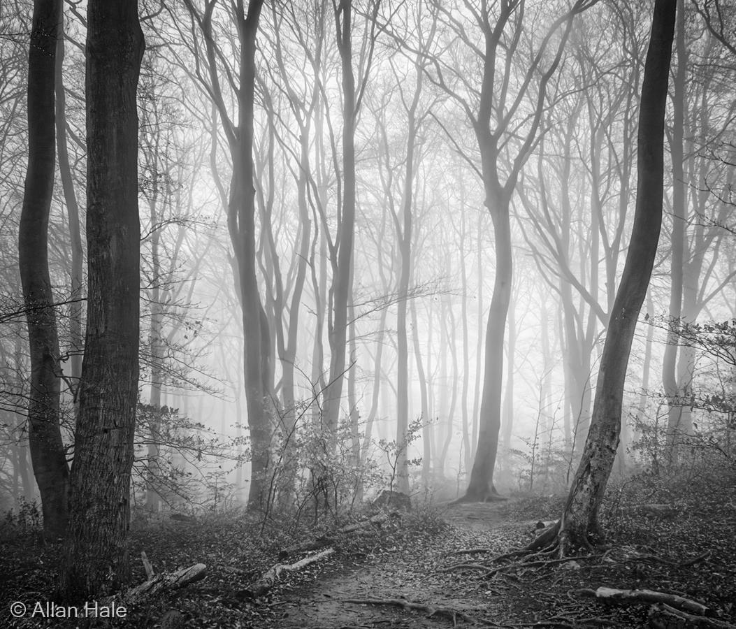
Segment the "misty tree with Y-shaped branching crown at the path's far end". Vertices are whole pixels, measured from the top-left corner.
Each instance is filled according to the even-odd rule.
[[[522,74],[516,80],[512,80],[511,75],[519,69],[515,65],[522,54],[520,46],[529,39],[522,36],[525,21],[528,21],[526,3],[513,0],[497,6],[483,0],[479,4],[478,7],[477,3],[464,2],[465,13],[470,16],[466,15],[467,20],[482,34],[481,43],[477,45],[470,38],[463,18],[445,4],[434,1],[436,18],[441,14],[450,27],[453,42],[448,45],[456,46],[455,42],[459,42],[467,54],[478,57],[480,86],[473,85],[463,71],[439,57],[433,57],[434,71],[428,73],[431,81],[464,111],[473,128],[481,167],[475,166],[468,156],[466,158],[483,182],[495,241],[495,281],[486,324],[478,443],[475,444],[470,482],[461,498],[466,501],[483,501],[498,495],[493,484],[493,470],[500,430],[503,338],[512,297],[512,196],[538,141],[542,114],[548,106],[548,85],[562,61],[573,19],[595,4],[595,0],[576,0],[562,16],[551,22],[537,46],[531,38],[528,51],[531,63],[525,61]],[[494,15],[494,11],[498,15]]]

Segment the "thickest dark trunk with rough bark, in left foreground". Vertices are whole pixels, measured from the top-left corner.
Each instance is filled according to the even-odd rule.
[[[138,402],[138,3],[91,0],[87,65],[88,316],[60,574],[66,600],[130,577],[127,532]]]

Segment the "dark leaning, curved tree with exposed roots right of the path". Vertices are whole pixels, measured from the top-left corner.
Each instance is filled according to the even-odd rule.
[[[595,387],[590,431],[562,519],[531,544],[559,544],[561,555],[601,537],[598,509],[618,448],[623,385],[631,341],[657,254],[662,227],[665,105],[677,0],[654,4],[644,66],[637,139],[637,201],[629,252],[611,312]]]

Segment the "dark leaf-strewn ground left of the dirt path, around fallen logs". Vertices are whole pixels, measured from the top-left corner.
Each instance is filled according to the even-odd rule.
[[[359,535],[334,536],[339,527],[369,517],[373,511],[350,518],[321,522],[317,526],[302,525],[294,530],[292,522],[272,519],[262,530],[258,516],[233,511],[205,515],[196,519],[172,520],[168,517],[134,522],[130,536],[132,583],[146,580],[141,552],[145,552],[155,572],[172,572],[202,563],[208,566],[206,578],[178,591],[167,591],[154,600],[136,606],[124,620],[110,625],[107,620],[95,620],[89,628],[115,626],[120,628],[153,628],[158,626],[166,611],[183,614],[185,626],[209,627],[269,627],[277,626],[272,602],[284,591],[299,583],[314,580],[323,572],[339,570],[349,559],[352,564],[375,559],[397,547],[407,547],[420,539],[436,536],[445,528],[436,511],[418,508],[407,513],[394,513],[380,526],[361,529]],[[60,546],[43,544],[37,531],[24,527],[5,528],[0,554],[4,570],[0,575],[0,609],[3,622],[10,614],[10,603],[22,601],[32,609],[36,601],[54,600]],[[250,600],[243,591],[271,566],[291,563],[306,553],[280,558],[285,548],[320,536],[334,538],[336,553],[327,561],[299,572],[288,573],[266,596]],[[77,622],[56,619],[12,619],[10,627],[72,627]],[[4,625],[0,622],[0,625]]]

